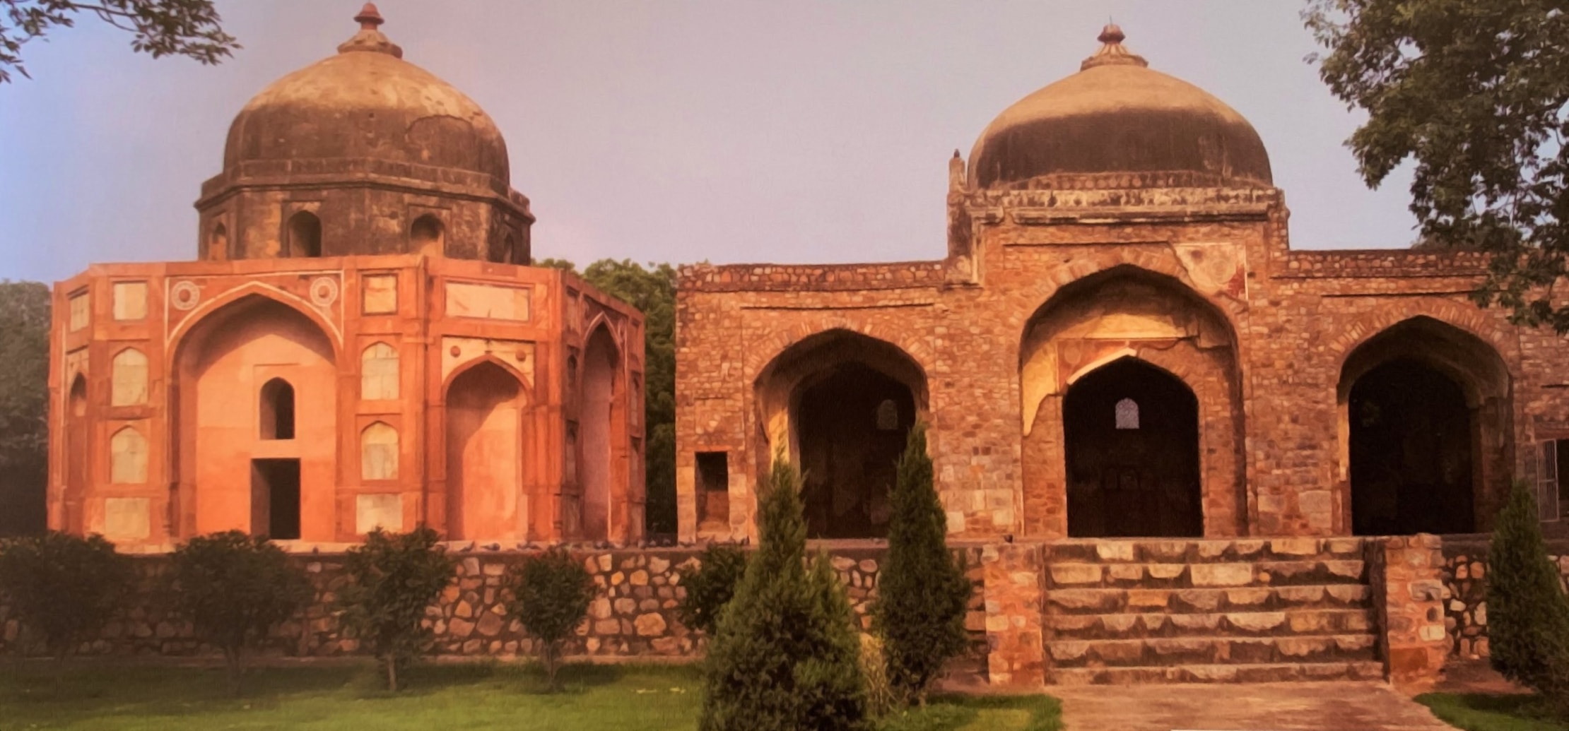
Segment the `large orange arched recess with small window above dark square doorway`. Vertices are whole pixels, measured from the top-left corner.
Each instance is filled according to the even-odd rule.
[[[251,295],[202,317],[176,359],[180,535],[339,540],[337,367],[326,333]]]

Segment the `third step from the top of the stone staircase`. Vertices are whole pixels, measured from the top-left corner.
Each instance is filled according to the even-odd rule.
[[[1367,584],[1233,588],[1051,588],[1048,615],[1280,612],[1368,606]]]

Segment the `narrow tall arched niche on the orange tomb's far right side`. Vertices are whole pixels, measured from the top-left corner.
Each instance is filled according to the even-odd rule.
[[[610,536],[610,493],[615,478],[613,419],[620,353],[610,329],[595,328],[584,347],[582,387],[577,397],[577,477],[582,483],[579,538]]]

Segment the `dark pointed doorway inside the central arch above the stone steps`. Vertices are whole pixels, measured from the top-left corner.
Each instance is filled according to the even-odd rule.
[[[1062,400],[1068,535],[1202,536],[1199,400],[1177,376],[1123,358]]]

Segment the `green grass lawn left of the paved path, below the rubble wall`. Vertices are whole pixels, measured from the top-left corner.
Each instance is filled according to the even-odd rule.
[[[573,665],[566,692],[543,693],[527,665],[424,665],[391,695],[369,664],[256,668],[240,698],[221,668],[78,662],[55,687],[49,664],[0,664],[0,731],[22,729],[695,729],[692,667]],[[937,698],[880,731],[1058,731],[1047,696]]]

